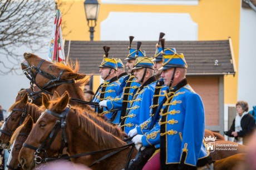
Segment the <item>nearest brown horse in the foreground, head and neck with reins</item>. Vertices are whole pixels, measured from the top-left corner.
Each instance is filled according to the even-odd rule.
[[[43,95],[45,97],[45,95]],[[62,134],[66,134],[65,142],[67,145],[67,153],[69,155],[76,155],[79,153],[93,152],[106,150],[109,148],[124,147],[124,150],[117,152],[116,154],[101,160],[98,163],[93,163],[105,156],[111,151],[100,151],[97,154],[91,154],[90,156],[81,156],[71,158],[72,162],[91,165],[92,169],[122,169],[125,168],[127,155],[130,151],[130,147],[126,146],[126,143],[115,137],[111,133],[104,131],[95,122],[88,119],[87,116],[82,114],[82,110],[68,108],[69,96],[64,94],[60,100],[53,100],[50,103],[49,110],[46,110],[40,119],[36,122],[27,140],[25,141],[21,152],[19,153],[19,162],[24,169],[32,169],[35,167],[34,152],[31,148],[24,146],[34,146],[39,148],[48,147],[48,156],[51,153],[61,150]],[[65,120],[64,128],[60,131],[60,122]],[[60,125],[60,126],[59,126]],[[63,127],[62,126],[62,127]],[[54,129],[56,129],[55,132]],[[61,133],[62,132],[62,133]],[[51,144],[44,142],[46,138],[49,138],[49,134],[55,134],[54,138],[51,138]],[[41,150],[37,150],[40,153]],[[114,149],[116,151],[116,149]],[[136,150],[132,152],[132,158],[135,157]],[[37,154],[36,154],[37,156]]]

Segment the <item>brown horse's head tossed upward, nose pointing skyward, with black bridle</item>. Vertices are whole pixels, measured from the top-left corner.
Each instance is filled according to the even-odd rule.
[[[57,91],[62,95],[68,91],[72,98],[84,100],[82,86],[88,83],[90,76],[78,73],[77,62],[75,65],[69,63],[64,65],[43,60],[31,53],[24,53],[23,56],[24,61],[21,63],[23,72],[33,84],[43,89],[43,92],[53,94]],[[71,100],[70,104],[77,105],[77,102]]]

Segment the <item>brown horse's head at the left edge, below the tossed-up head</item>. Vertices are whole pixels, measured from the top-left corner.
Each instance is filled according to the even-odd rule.
[[[4,120],[3,126],[0,130],[0,141],[2,148],[8,148],[12,133],[19,125],[23,123],[24,119],[26,118],[25,116],[27,115],[27,104],[28,96],[25,94],[21,100],[15,102],[9,108],[9,114],[6,120]]]

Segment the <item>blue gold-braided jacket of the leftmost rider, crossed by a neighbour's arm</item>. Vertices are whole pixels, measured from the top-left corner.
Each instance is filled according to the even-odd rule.
[[[104,81],[96,91],[95,95],[92,98],[92,102],[100,102],[102,100],[113,99],[117,96],[117,91],[119,90],[120,83],[117,79],[117,76],[114,78]],[[110,119],[112,112],[108,111],[106,107],[99,109],[99,114],[104,114],[107,119]]]

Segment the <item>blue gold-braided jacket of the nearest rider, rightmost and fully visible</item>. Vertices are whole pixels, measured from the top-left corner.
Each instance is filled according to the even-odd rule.
[[[196,166],[200,159],[209,156],[203,141],[204,106],[186,80],[184,84],[180,89],[168,92],[159,122],[142,136],[142,145],[160,147],[161,162],[164,164]]]

